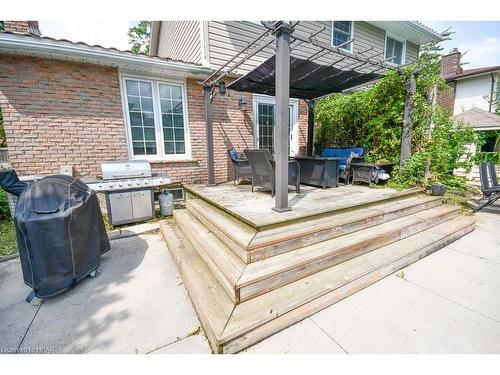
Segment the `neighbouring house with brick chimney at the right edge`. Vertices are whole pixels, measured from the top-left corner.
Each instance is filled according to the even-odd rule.
[[[485,144],[477,149],[469,145],[471,152],[500,152],[500,115],[496,114],[495,101],[500,100],[500,65],[476,69],[463,69],[462,54],[453,49],[441,60],[441,74],[449,89],[441,93],[439,103],[446,107],[453,119],[470,126],[475,131],[483,132]],[[459,173],[463,173],[460,171]],[[477,178],[478,168],[468,174],[468,178]]]

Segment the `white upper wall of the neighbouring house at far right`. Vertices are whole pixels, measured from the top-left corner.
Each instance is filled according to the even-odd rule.
[[[496,81],[498,82],[498,75]],[[490,104],[488,97],[490,95],[490,74],[458,80],[456,82],[453,115],[457,115],[463,111],[471,109],[472,107],[489,111]]]

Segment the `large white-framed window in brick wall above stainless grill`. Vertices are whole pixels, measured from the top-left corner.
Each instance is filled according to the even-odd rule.
[[[183,82],[122,76],[122,95],[132,159],[190,158]]]

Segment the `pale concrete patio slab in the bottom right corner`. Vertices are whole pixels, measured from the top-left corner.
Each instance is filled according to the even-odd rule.
[[[500,323],[395,275],[311,319],[352,354],[500,353]]]

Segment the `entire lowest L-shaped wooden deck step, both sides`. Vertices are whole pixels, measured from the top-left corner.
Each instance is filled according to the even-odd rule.
[[[457,216],[236,306],[177,225],[162,221],[160,230],[212,350],[235,353],[446,246],[474,222]]]

